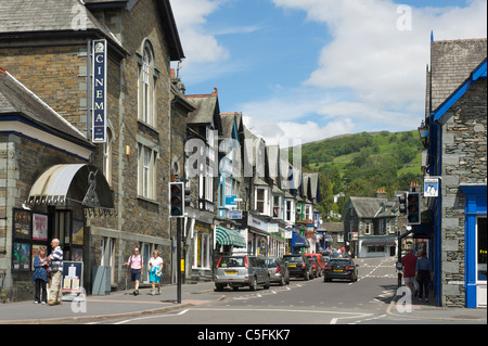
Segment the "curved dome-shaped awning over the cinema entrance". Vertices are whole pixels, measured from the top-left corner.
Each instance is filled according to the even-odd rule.
[[[67,200],[88,208],[114,208],[112,190],[95,166],[54,165],[37,178],[30,188],[28,204],[65,206]]]

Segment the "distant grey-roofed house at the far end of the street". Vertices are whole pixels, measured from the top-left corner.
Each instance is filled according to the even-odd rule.
[[[344,241],[357,257],[396,255],[398,198],[350,197],[344,210]],[[347,249],[347,248],[346,248]]]

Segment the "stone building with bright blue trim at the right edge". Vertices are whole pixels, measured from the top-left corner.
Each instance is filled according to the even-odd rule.
[[[446,307],[486,307],[486,42],[431,43],[423,168],[439,192],[426,198],[432,219],[422,227],[433,228],[435,293]]]

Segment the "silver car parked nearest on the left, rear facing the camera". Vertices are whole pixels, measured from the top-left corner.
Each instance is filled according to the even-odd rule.
[[[251,255],[221,256],[214,279],[216,291],[222,291],[227,285],[234,291],[243,286],[256,291],[257,285],[264,285],[268,290],[270,283],[265,261]]]

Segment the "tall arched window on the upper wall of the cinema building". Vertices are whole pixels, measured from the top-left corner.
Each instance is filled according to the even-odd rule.
[[[139,63],[139,119],[153,127],[155,119],[154,52],[149,41],[144,42],[142,60]]]

